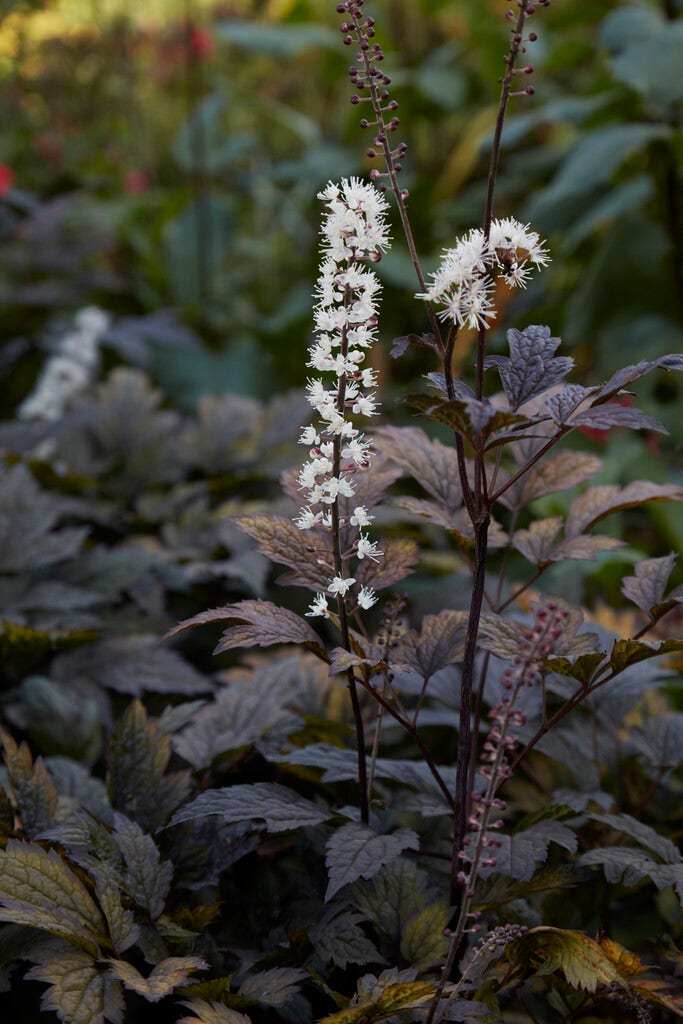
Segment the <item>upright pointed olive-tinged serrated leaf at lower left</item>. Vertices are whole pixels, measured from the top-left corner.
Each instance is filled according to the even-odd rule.
[[[189,788],[188,772],[165,774],[170,757],[171,737],[134,700],[110,740],[106,786],[112,805],[147,833],[166,823]]]

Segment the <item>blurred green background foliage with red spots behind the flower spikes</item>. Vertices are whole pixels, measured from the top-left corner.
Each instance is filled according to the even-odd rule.
[[[371,6],[429,270],[481,219],[506,4]],[[315,191],[371,166],[332,0],[4,0],[0,16],[2,415],[93,302],[113,316],[103,369],[142,365],[175,408],[300,385]],[[521,79],[536,94],[512,101],[497,214],[532,221],[554,262],[501,297],[493,344],[547,323],[594,383],[683,349],[681,3],[557,0],[537,22]],[[398,238],[380,272],[386,342],[423,330]],[[377,359],[386,408],[432,369]],[[672,436],[587,436],[608,480],[680,477],[680,384],[651,380],[642,403]],[[676,514],[656,515],[665,547],[683,547]]]

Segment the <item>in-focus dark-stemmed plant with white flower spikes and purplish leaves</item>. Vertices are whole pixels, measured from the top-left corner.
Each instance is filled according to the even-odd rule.
[[[394,141],[398,104],[389,92],[390,77],[375,41],[375,23],[366,16],[362,0],[337,4],[343,42],[354,54],[349,69],[351,103],[364,114],[360,127],[371,137],[367,156],[379,166],[370,172],[370,181],[344,179],[330,183],[318,196],[325,211],[322,262],[315,336],[307,362],[311,375],[321,375],[307,383],[315,420],[300,438],[308,450],[307,460],[284,478],[300,512],[293,522],[251,515],[241,517],[240,524],[263,554],[288,566],[282,583],[314,592],[306,616],[329,620],[340,643],[329,649],[304,617],[266,601],[242,601],[177,628],[230,621],[237,625],[224,634],[219,651],[299,643],[329,664],[332,674],[345,678],[355,723],[358,819],[368,833],[383,719],[391,717],[410,736],[452,819],[449,948],[428,993],[395,1008],[413,1009],[427,1024],[464,1019],[457,1016],[454,999],[468,993],[471,997],[471,980],[480,974],[481,964],[522,941],[525,929],[517,925],[484,930],[479,944],[473,937],[485,929],[485,916],[479,921],[480,911],[472,907],[478,882],[497,868],[506,780],[554,726],[598,689],[636,662],[669,649],[641,638],[683,598],[678,592],[666,594],[673,555],[641,563],[635,575],[625,579],[623,590],[646,613],[647,622],[632,638],[616,640],[610,651],[599,649],[598,638],[582,628],[581,610],[559,597],[537,597],[526,617],[523,612],[518,618],[505,614],[551,564],[592,558],[618,547],[621,542],[613,537],[590,532],[607,514],[649,501],[683,499],[683,490],[673,484],[637,481],[624,488],[602,485],[583,490],[564,520],[558,515],[541,519],[529,515],[536,499],[581,484],[598,468],[598,460],[590,454],[565,445],[558,450],[560,441],[579,427],[663,431],[655,420],[624,406],[618,396],[650,371],[683,369],[683,356],[667,355],[626,367],[601,385],[567,384],[564,378],[572,359],[557,356],[559,339],[539,326],[508,332],[509,356],[486,355],[499,279],[510,288],[524,287],[549,261],[545,244],[528,225],[495,217],[506,112],[513,97],[533,94],[531,86],[522,84],[533,72],[526,51],[537,39],[527,23],[548,4],[549,0],[516,0],[516,10],[506,11],[510,45],[481,224],[454,240],[430,280],[422,270],[409,194],[400,182],[408,147]],[[378,334],[381,289],[373,264],[390,244],[389,198],[415,269],[416,298],[424,303],[424,308],[416,306],[416,319],[426,310],[429,324],[429,331],[420,337],[407,332],[394,343],[392,354],[418,344],[433,356],[437,366],[428,375],[429,392],[412,395],[409,401],[424,419],[452,430],[452,447],[430,440],[417,427],[381,426],[372,439],[364,433],[364,420],[379,411],[377,374],[367,358]],[[473,387],[453,376],[454,351],[463,328],[476,331]],[[488,370],[502,384],[495,400],[484,391]],[[411,631],[404,627],[405,601],[390,597],[384,602],[379,630],[372,633],[365,612],[378,603],[382,590],[412,571],[418,557],[413,541],[382,541],[369,532],[373,509],[399,475],[396,466],[411,474],[428,498],[405,497],[395,504],[418,521],[446,529],[466,556],[471,567],[469,608],[427,615],[419,630]],[[528,579],[512,586],[506,567],[515,552],[530,567]],[[502,673],[490,672],[492,655],[506,663]],[[420,725],[430,680],[446,666],[459,667],[455,773],[436,763]],[[413,691],[401,692],[405,673],[423,681],[417,697]],[[553,673],[566,685],[551,693],[547,683]],[[492,699],[495,689],[498,696]],[[490,723],[487,731],[482,728],[485,715]],[[343,825],[341,830],[349,827],[357,825]],[[385,837],[396,842],[393,848],[385,845],[382,863],[414,848],[410,837],[397,837],[397,833]],[[358,870],[355,877],[360,873],[367,878],[372,869]],[[628,983],[614,980],[608,971],[605,979],[622,997]]]

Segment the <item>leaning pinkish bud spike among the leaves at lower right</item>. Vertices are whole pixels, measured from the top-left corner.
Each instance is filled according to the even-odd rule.
[[[543,659],[561,647],[568,612],[556,601],[549,601],[536,609],[533,625],[526,630],[519,653],[501,677],[504,695],[492,708],[488,718],[493,725],[486,736],[480,757],[479,774],[485,779],[483,793],[472,794],[472,813],[468,819],[469,835],[459,856],[463,862],[458,881],[465,886],[467,896],[473,896],[473,886],[480,867],[496,866],[496,850],[501,843],[490,831],[502,828],[503,821],[492,821],[494,811],[505,810],[505,801],[496,793],[512,774],[510,754],[517,746],[517,737],[511,731],[521,728],[526,718],[517,699],[525,687],[541,682]]]

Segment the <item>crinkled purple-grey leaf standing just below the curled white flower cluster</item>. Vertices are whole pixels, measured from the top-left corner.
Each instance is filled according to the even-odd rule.
[[[520,406],[559,384],[573,367],[573,359],[554,354],[560,339],[552,338],[548,327],[531,326],[524,331],[513,328],[508,331],[507,339],[510,356],[490,356],[485,366],[498,370],[510,408],[516,412]]]

